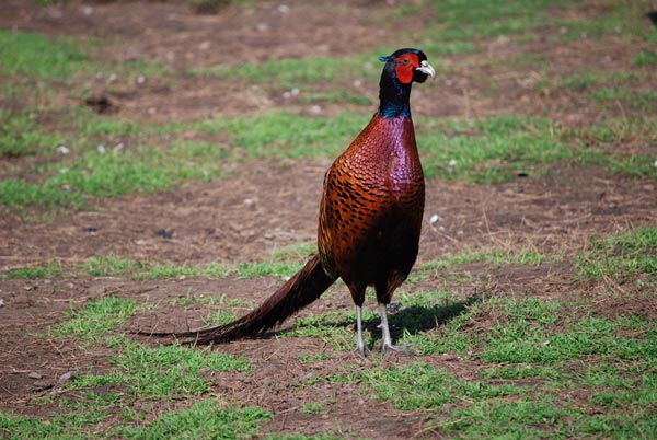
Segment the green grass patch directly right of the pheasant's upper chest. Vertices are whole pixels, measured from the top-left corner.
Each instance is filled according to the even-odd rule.
[[[550,119],[521,115],[482,120],[420,118],[417,143],[428,177],[495,184],[516,175],[541,176],[552,164],[567,162],[657,178],[650,154],[624,154],[613,147],[637,139],[646,146],[654,142],[655,124],[649,117],[610,119],[574,130]]]

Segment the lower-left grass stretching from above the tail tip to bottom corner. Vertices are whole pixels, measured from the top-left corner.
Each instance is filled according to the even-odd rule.
[[[61,395],[35,400],[36,405],[59,408],[48,421],[16,417],[0,412],[0,432],[14,438],[88,438],[89,429],[113,420],[103,438],[234,438],[257,432],[270,413],[257,407],[227,404],[210,394],[215,374],[243,372],[251,364],[243,358],[216,350],[177,345],[146,347],[112,335],[112,329],[143,310],[135,300],[108,297],[92,300],[50,331],[50,336],[74,340],[94,338],[96,345],[112,350],[110,367],[100,372],[78,372]],[[189,406],[173,406],[181,398]],[[132,407],[139,402],[140,406]],[[154,403],[164,412],[152,418]],[[169,402],[169,404],[166,404]],[[148,421],[147,421],[148,420]]]

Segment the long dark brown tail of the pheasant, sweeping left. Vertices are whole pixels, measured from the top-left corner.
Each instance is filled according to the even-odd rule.
[[[255,336],[276,324],[280,324],[288,316],[320,298],[333,282],[335,282],[335,278],[326,275],[319,255],[314,255],[276,293],[267,298],[253,312],[239,320],[217,327],[192,332],[138,332],[138,334],[160,337],[174,336],[181,339],[183,344],[195,345],[228,343]]]

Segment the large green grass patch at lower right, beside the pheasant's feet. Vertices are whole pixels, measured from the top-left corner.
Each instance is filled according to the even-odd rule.
[[[657,428],[650,416],[657,396],[652,380],[655,323],[638,316],[578,316],[581,308],[531,298],[470,305],[423,352],[457,352],[471,367],[479,364],[474,377],[458,375],[463,360],[436,366],[425,361],[429,357],[387,368],[366,366],[325,380],[361,383],[400,410],[422,410],[429,417],[424,431],[457,438],[649,437]],[[485,324],[489,319],[492,324]],[[427,337],[402,341],[417,348]],[[566,389],[588,401],[563,398]]]

